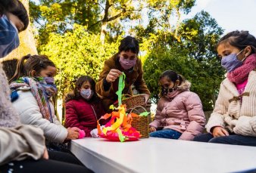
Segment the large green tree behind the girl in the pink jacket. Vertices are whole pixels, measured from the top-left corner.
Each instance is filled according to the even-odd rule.
[[[150,30],[147,27],[144,31]],[[204,110],[212,110],[224,75],[215,51],[222,33],[216,21],[201,11],[180,23],[180,41],[172,33],[161,30],[153,30],[147,39],[142,36],[142,48],[148,52],[144,57],[145,82],[153,99],[158,100],[160,74],[164,70],[176,70],[192,82],[191,91],[201,97]]]

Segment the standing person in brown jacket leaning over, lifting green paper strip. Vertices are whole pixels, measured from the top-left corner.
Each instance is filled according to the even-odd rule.
[[[126,75],[123,94],[133,94],[132,85],[134,85],[140,94],[145,94],[145,103],[147,103],[150,91],[143,79],[142,61],[138,58],[138,54],[139,42],[131,36],[126,36],[120,42],[118,53],[105,60],[105,66],[96,84],[96,91],[102,97],[105,110],[117,101],[117,78],[122,72]]]

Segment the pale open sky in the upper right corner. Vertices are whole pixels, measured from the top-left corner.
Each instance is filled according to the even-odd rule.
[[[202,10],[217,20],[224,34],[238,29],[256,36],[256,0],[196,0],[189,16]]]

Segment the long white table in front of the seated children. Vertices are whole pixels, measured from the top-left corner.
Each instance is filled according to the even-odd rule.
[[[232,172],[256,168],[256,147],[150,137],[133,142],[83,138],[71,152],[96,173]]]

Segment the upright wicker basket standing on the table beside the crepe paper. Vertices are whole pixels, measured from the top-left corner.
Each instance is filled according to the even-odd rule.
[[[136,114],[146,112],[145,108],[141,106],[133,107],[127,110],[127,112],[128,111],[129,113],[136,113]],[[142,135],[141,138],[149,137],[149,118],[150,118],[150,115],[133,117],[132,126],[133,128],[136,128],[137,131],[139,131],[139,133]]]

